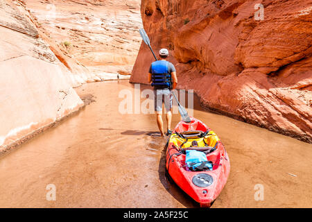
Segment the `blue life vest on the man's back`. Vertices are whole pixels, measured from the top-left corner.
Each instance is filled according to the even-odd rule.
[[[171,89],[171,74],[168,61],[158,60],[152,63],[152,86]]]

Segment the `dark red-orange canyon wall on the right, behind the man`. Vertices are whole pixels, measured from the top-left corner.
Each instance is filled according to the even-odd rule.
[[[171,50],[179,88],[195,89],[211,110],[312,142],[311,6],[143,0],[141,15],[153,49]],[[130,81],[146,83],[152,61],[142,44]]]

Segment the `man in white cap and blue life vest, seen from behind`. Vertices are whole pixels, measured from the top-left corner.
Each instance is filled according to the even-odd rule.
[[[164,137],[164,123],[162,121],[162,104],[166,109],[167,133],[171,135],[172,119],[172,94],[171,89],[177,87],[177,74],[175,67],[166,59],[169,56],[168,49],[160,49],[160,60],[150,65],[148,73],[148,83],[154,86],[155,112],[157,114],[157,125],[162,137]]]

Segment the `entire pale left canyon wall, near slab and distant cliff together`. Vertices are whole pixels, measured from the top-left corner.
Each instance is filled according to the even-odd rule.
[[[129,78],[139,0],[0,0],[0,9],[0,152],[83,107],[72,87]]]

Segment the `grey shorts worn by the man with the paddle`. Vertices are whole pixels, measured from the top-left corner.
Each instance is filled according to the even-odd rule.
[[[170,89],[154,89],[155,95],[155,111],[162,112],[162,103],[164,103],[166,112],[172,108],[172,94]]]

